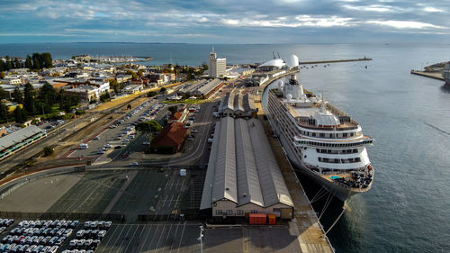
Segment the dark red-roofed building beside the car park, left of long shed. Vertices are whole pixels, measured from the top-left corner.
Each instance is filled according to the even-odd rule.
[[[176,153],[181,149],[181,145],[186,137],[187,128],[182,122],[170,122],[159,132],[150,145],[150,149],[155,153]]]

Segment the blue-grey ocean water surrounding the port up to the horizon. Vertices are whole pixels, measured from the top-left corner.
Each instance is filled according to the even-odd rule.
[[[55,59],[76,54],[150,56],[149,65],[200,65],[212,45],[191,44],[0,44],[0,55],[49,51]],[[302,69],[299,80],[350,114],[365,134],[375,168],[374,186],[358,194],[329,232],[337,252],[450,251],[450,87],[410,75],[410,69],[450,59],[450,45],[287,44],[214,45],[231,64],[262,62],[297,54],[302,60],[373,61]],[[365,68],[367,66],[367,68]],[[311,193],[314,194],[314,193]],[[326,210],[327,230],[340,206]],[[321,210],[317,210],[321,212]]]

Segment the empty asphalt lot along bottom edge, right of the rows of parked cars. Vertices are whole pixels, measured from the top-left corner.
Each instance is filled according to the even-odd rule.
[[[200,223],[116,224],[95,252],[200,252]],[[284,226],[206,229],[203,252],[302,252]]]

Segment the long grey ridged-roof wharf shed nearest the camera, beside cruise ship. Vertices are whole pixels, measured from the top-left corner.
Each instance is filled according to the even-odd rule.
[[[257,119],[216,123],[200,209],[213,218],[250,213],[293,219],[293,200]]]

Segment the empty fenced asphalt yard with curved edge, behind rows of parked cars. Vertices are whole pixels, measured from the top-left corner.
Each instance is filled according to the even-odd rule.
[[[128,178],[128,179],[127,179]],[[188,202],[189,173],[179,170],[99,170],[43,177],[22,185],[0,201],[4,212],[87,212],[171,214]]]

